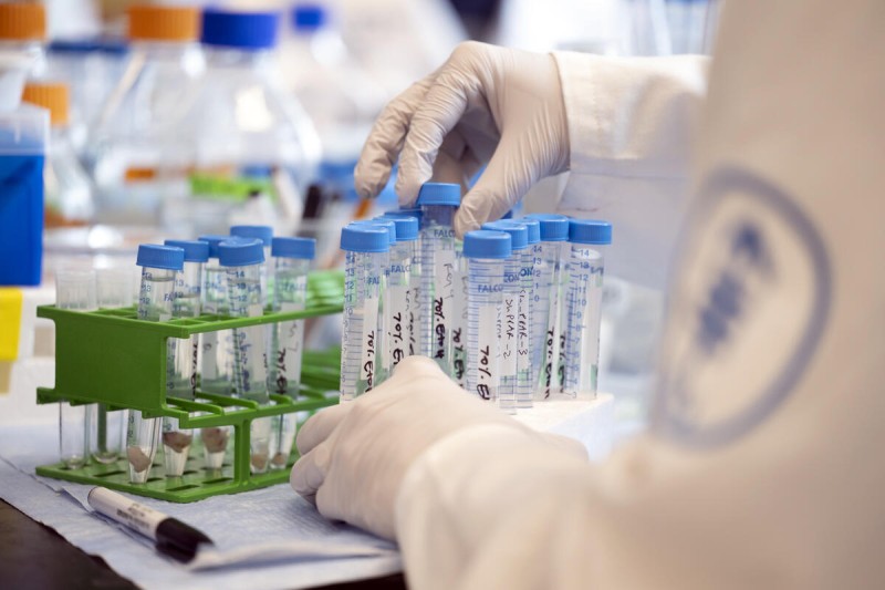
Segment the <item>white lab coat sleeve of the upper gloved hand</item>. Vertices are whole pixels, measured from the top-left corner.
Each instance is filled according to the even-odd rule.
[[[571,148],[559,213],[614,226],[606,272],[663,288],[709,59],[554,53]]]

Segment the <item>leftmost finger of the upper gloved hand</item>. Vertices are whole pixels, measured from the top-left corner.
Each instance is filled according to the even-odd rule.
[[[403,149],[406,133],[436,72],[416,82],[384,107],[366,138],[354,169],[354,187],[362,198],[374,198],[387,185]]]

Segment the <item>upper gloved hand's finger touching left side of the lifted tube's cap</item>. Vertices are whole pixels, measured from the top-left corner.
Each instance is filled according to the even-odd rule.
[[[396,194],[400,203],[412,205],[424,183],[434,174],[434,162],[446,136],[461,120],[468,93],[477,85],[470,74],[444,68],[412,116],[408,134],[399,154]]]

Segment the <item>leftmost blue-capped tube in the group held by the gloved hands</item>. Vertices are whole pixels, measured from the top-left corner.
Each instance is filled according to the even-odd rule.
[[[378,300],[391,249],[386,228],[351,224],[341,230],[344,313],[341,331],[341,402],[375,386]]]

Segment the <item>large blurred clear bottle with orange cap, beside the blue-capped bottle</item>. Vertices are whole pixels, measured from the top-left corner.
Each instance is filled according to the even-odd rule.
[[[199,12],[135,6],[128,17],[126,69],[91,125],[85,152],[97,188],[97,219],[162,224],[187,234],[179,216],[166,219],[163,211],[174,210],[189,188],[194,141],[183,117],[206,68],[197,43]]]

